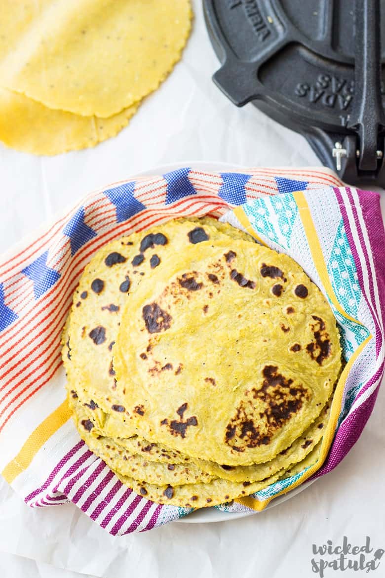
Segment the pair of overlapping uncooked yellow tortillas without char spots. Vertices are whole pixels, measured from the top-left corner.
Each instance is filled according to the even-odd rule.
[[[2,0],[0,140],[58,154],[116,135],[181,57],[189,0]]]

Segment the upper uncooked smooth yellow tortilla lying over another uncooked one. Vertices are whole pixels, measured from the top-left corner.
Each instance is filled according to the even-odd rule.
[[[158,88],[190,32],[188,0],[3,0],[0,86],[111,117]]]

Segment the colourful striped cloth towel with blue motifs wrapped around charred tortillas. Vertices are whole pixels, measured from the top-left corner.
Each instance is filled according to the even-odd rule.
[[[65,401],[60,337],[81,272],[104,243],[173,217],[205,214],[246,229],[305,269],[334,311],[347,361],[317,465],[220,509],[261,510],[330,472],[357,441],[384,366],[379,195],[343,187],[326,169],[182,168],[89,194],[0,260],[0,472],[29,506],[71,501],[113,535],[192,511],[135,494],[80,440]]]

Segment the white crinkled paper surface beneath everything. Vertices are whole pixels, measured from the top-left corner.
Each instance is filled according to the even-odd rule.
[[[0,145],[0,253],[86,192],[159,165],[315,166],[305,140],[255,107],[237,109],[211,82],[218,61],[199,0],[192,36],[163,86],[129,126],[95,149],[53,158]],[[26,127],[27,128],[27,127]],[[219,167],[220,168],[220,167]],[[385,194],[383,194],[383,210]],[[0,576],[307,578],[312,544],[346,535],[385,549],[385,388],[356,446],[329,475],[266,512],[214,524],[173,523],[113,538],[73,505],[28,509],[0,479]],[[48,511],[49,510],[49,511]],[[375,578],[385,575],[385,555]],[[326,569],[325,576],[367,576]]]

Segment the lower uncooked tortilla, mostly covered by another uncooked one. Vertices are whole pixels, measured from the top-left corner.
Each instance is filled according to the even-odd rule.
[[[110,118],[79,116],[47,108],[22,94],[0,88],[0,140],[24,153],[54,155],[95,146],[115,136],[139,103]]]

